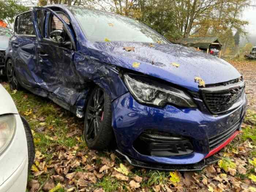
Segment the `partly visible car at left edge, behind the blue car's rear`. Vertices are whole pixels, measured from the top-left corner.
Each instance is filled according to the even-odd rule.
[[[11,36],[12,32],[10,29],[0,27],[0,75],[5,75],[5,50]]]

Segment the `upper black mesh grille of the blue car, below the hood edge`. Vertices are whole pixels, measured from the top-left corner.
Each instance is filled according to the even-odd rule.
[[[206,106],[213,114],[227,112],[241,97],[245,84],[238,82],[227,86],[203,88],[202,95]]]

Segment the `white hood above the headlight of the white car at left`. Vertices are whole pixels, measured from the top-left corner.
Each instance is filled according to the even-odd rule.
[[[4,87],[0,84],[0,115],[6,113],[16,113],[18,114],[18,110],[14,104],[14,101],[11,98],[11,95],[4,89]]]

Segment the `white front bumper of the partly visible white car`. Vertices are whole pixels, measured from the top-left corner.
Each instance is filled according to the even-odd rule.
[[[28,152],[25,130],[16,116],[16,132],[11,144],[0,155],[0,191],[25,192],[28,173]]]

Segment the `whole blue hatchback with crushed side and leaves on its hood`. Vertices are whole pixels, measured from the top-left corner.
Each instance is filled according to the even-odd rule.
[[[87,146],[132,165],[200,170],[238,134],[245,82],[229,63],[142,23],[66,5],[19,14],[6,53],[23,87],[84,118]]]

